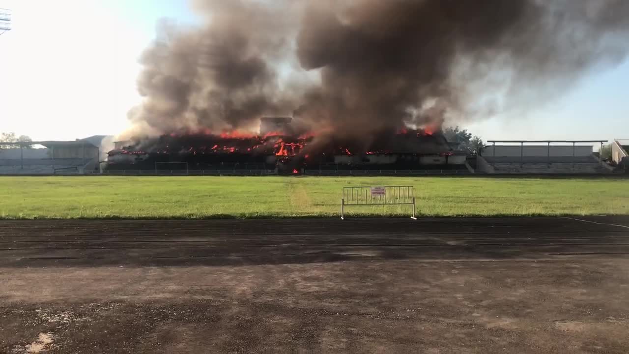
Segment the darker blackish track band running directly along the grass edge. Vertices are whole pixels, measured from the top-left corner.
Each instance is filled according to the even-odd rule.
[[[0,266],[186,266],[629,255],[628,217],[0,222]],[[583,219],[583,220],[586,220]]]

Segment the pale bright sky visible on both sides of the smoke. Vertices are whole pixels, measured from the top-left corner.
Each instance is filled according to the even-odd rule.
[[[0,0],[0,8],[13,13],[13,30],[0,35],[0,132],[33,140],[123,131],[157,20],[195,20],[183,0]],[[629,138],[629,61],[525,116],[463,127],[484,140]]]

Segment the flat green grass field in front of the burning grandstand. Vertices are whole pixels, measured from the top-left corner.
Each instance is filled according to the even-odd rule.
[[[418,215],[629,214],[629,181],[603,178],[58,176],[0,177],[0,219],[338,216],[342,187],[359,185],[415,186]]]

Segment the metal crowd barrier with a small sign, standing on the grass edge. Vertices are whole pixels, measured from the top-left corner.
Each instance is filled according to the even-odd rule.
[[[345,220],[345,207],[350,205],[413,205],[411,219],[417,220],[413,186],[343,187],[341,219]]]

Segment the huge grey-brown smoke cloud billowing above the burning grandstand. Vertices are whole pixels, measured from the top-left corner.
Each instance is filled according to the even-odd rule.
[[[128,134],[304,130],[369,139],[540,105],[629,51],[625,0],[194,1],[142,55]]]

